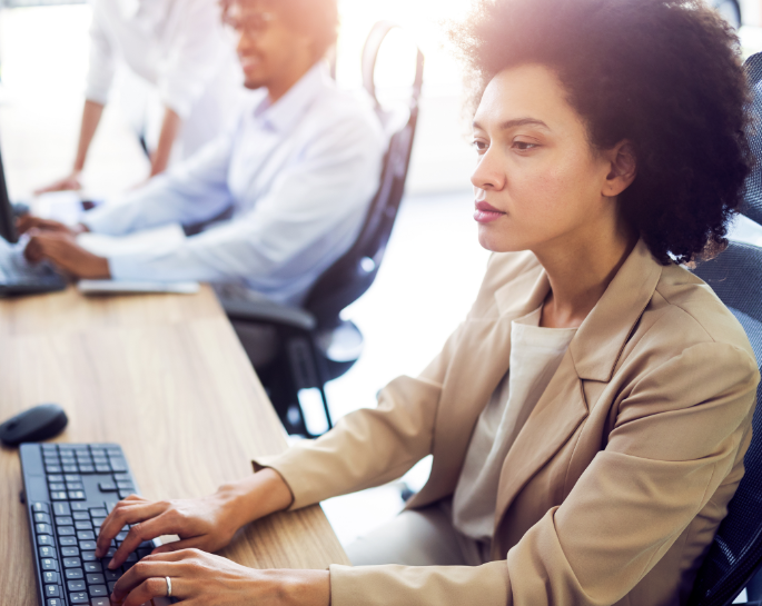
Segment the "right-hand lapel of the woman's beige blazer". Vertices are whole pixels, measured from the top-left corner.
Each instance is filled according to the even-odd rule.
[[[583,379],[611,380],[661,275],[662,266],[639,241],[580,326],[503,464],[495,509],[496,533],[516,495],[568,441],[595,406],[596,403],[585,400]]]

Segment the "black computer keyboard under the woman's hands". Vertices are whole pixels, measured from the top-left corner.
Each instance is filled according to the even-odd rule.
[[[129,530],[125,526],[108,555],[96,557],[103,519],[120,499],[138,494],[121,447],[22,444],[20,455],[40,606],[109,606],[117,579],[155,546],[140,544],[123,566],[109,570],[106,566]]]

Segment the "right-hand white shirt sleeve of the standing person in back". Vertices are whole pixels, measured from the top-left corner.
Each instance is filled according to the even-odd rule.
[[[164,105],[187,119],[220,69],[226,41],[218,2],[182,0],[180,6],[157,83]]]

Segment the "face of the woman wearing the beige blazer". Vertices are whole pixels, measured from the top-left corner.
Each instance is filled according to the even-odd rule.
[[[474,118],[474,219],[484,248],[537,252],[614,228],[612,155],[591,147],[547,68],[524,64],[495,76]]]

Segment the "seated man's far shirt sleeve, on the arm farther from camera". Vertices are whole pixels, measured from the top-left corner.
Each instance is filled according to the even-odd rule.
[[[90,231],[123,236],[132,231],[179,222],[211,219],[232,202],[227,177],[232,150],[227,132],[198,153],[119,201],[86,213]]]

